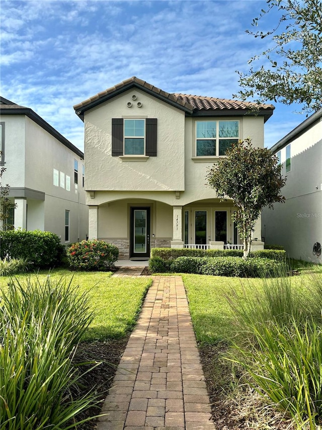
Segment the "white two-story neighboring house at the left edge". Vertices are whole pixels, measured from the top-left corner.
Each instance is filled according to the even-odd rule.
[[[0,98],[2,184],[17,207],[7,223],[52,231],[63,244],[85,239],[84,154],[32,109]]]

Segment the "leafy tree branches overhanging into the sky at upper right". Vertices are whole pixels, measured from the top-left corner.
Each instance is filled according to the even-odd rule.
[[[266,0],[253,26],[268,13],[279,11],[276,26],[268,32],[247,30],[254,37],[270,38],[270,48],[251,58],[250,72],[238,72],[243,88],[235,97],[256,102],[277,99],[284,104],[302,103],[302,111],[322,106],[322,2],[321,0]],[[255,60],[264,60],[257,69]],[[268,61],[267,61],[268,60]],[[262,66],[261,66],[262,64]]]

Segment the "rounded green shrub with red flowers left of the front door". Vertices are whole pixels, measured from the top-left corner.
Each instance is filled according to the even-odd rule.
[[[118,257],[118,248],[104,240],[82,240],[67,249],[67,259],[73,270],[108,271],[114,268]]]

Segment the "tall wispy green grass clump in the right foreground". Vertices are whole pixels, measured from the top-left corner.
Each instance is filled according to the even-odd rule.
[[[283,276],[242,300],[228,298],[239,327],[231,359],[301,429],[322,424],[321,292],[318,275],[308,286]]]

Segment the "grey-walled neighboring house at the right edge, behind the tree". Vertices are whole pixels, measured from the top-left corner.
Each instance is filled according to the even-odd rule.
[[[281,193],[285,204],[264,209],[262,235],[268,244],[283,245],[290,257],[321,263],[314,243],[322,244],[322,109],[309,116],[271,151],[287,177]]]

